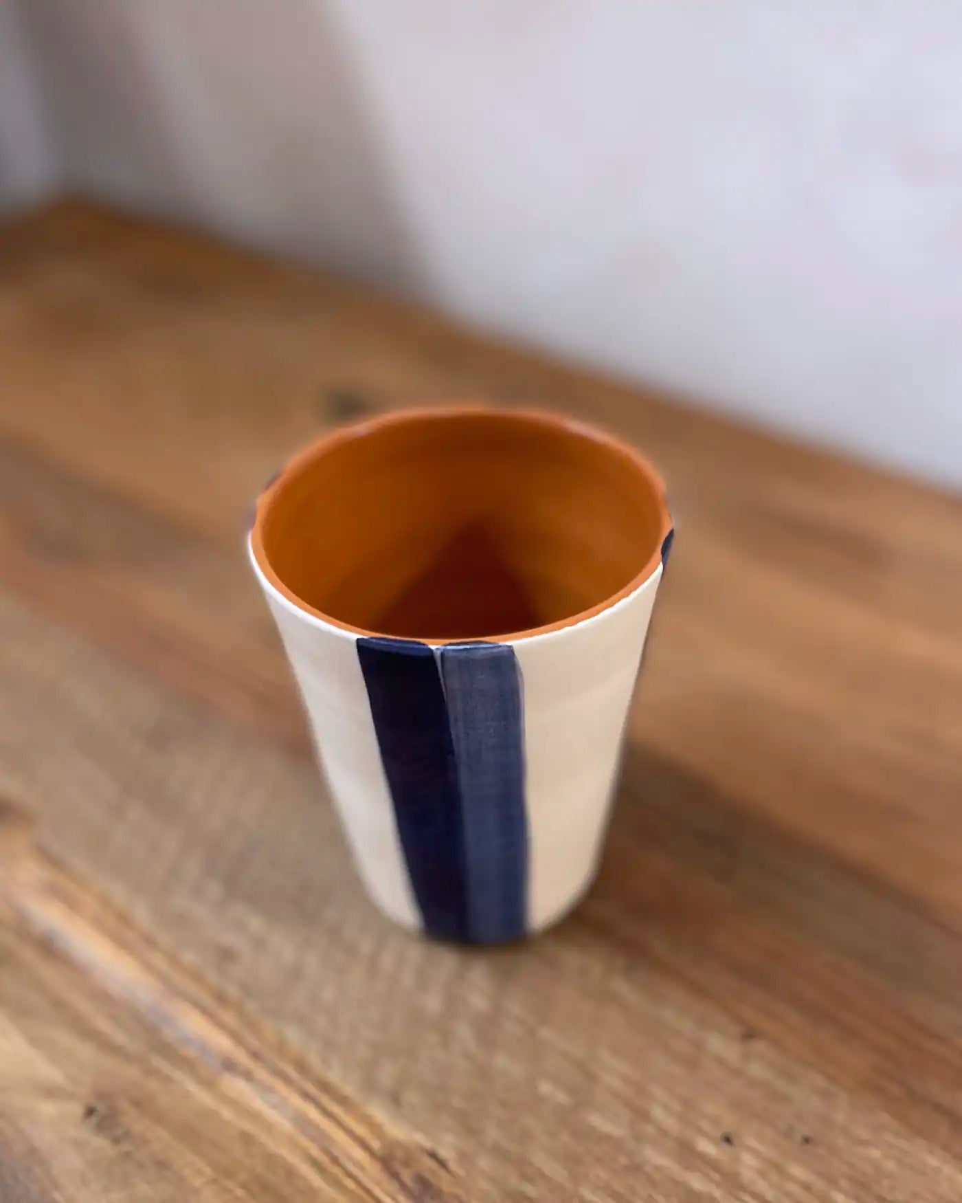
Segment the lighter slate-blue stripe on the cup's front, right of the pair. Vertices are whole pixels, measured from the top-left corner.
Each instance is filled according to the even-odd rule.
[[[475,943],[517,940],[528,925],[528,817],[521,672],[507,644],[440,651],[455,743]]]

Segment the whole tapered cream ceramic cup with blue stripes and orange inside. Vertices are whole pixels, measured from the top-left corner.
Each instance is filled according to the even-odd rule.
[[[671,538],[645,460],[540,411],[376,417],[267,486],[254,569],[392,919],[498,943],[584,894]]]

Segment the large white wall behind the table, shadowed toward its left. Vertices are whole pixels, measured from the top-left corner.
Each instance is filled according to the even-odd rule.
[[[962,484],[958,0],[26,0],[67,177]]]

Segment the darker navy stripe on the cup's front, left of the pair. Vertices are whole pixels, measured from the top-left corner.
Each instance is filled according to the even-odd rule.
[[[461,800],[434,652],[415,640],[361,638],[357,656],[424,930],[467,941]]]

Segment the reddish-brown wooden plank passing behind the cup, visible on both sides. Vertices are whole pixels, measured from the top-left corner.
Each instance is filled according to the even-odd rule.
[[[10,587],[188,697],[307,747],[237,546],[120,504],[10,439],[0,443],[0,515]],[[706,526],[688,531],[672,561],[636,739],[957,912],[962,645],[839,597],[832,577],[759,565],[755,543],[735,545]],[[952,591],[934,573],[924,577],[936,582],[938,611]],[[726,599],[724,626],[705,612],[706,598]]]

